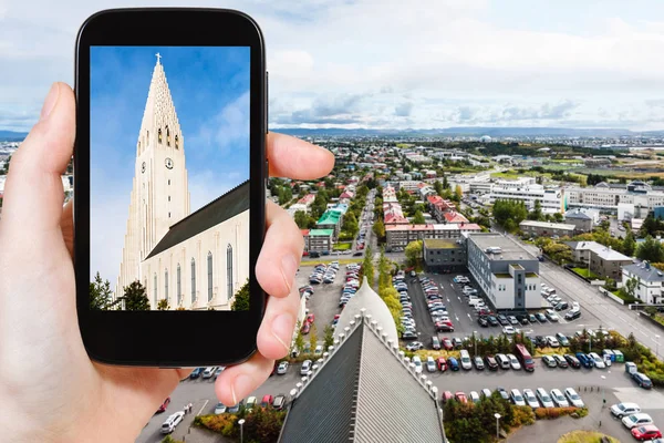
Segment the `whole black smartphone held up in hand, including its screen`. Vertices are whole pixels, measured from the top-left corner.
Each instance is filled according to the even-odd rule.
[[[248,16],[116,9],[76,41],[74,262],[96,361],[225,365],[266,295],[267,72]]]

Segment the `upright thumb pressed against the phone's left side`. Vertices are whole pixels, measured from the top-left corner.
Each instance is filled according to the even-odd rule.
[[[71,87],[53,83],[39,122],[11,157],[0,222],[4,241],[31,241],[42,234],[60,233],[61,175],[72,157],[75,110]]]

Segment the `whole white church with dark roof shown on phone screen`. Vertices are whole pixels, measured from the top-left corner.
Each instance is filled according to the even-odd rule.
[[[190,213],[185,137],[156,55],[115,297],[138,280],[153,310],[229,310],[249,277],[249,182]]]

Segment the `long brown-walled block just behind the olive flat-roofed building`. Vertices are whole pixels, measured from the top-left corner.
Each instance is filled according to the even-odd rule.
[[[385,226],[385,248],[405,248],[411,241],[425,238],[460,238],[465,233],[480,233],[479,225],[390,225]]]

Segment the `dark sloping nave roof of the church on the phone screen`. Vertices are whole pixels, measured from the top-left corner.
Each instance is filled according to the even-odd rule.
[[[170,226],[168,233],[145,259],[156,256],[245,210],[249,210],[249,181]]]

